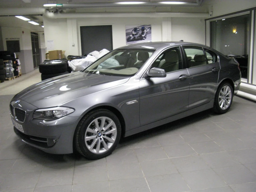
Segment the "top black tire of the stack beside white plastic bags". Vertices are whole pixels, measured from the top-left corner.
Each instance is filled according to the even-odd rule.
[[[63,73],[65,71],[67,71],[67,61],[65,60],[43,62],[39,64],[39,72],[44,75]]]

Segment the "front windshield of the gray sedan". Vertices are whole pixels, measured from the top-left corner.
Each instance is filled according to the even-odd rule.
[[[86,68],[86,73],[111,76],[134,76],[155,50],[117,49]]]

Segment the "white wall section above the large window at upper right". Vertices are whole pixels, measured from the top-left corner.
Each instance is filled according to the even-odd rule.
[[[256,6],[256,0],[205,0],[208,10],[213,8],[213,16],[220,16]]]

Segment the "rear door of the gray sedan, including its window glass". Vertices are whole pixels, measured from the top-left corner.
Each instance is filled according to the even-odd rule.
[[[220,64],[217,54],[201,46],[182,46],[189,74],[189,109],[214,98]]]

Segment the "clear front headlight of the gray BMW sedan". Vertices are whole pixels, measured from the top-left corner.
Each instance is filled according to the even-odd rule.
[[[38,109],[34,112],[34,119],[41,119],[45,121],[51,121],[55,119],[59,119],[60,117],[64,117],[70,113],[73,113],[75,109],[70,107],[51,107]]]

